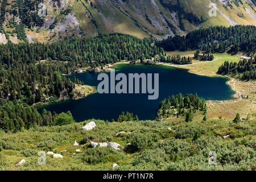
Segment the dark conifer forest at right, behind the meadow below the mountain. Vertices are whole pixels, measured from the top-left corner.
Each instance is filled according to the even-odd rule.
[[[169,36],[168,39],[156,42],[156,46],[167,51],[187,51],[200,49],[206,53],[239,51],[255,53],[255,26],[214,26],[200,28],[189,32],[186,36]]]

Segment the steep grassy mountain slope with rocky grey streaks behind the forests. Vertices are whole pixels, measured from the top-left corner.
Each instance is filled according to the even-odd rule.
[[[217,16],[208,15],[210,2]],[[39,3],[46,16],[39,16]],[[185,35],[199,27],[256,25],[255,1],[232,0],[2,0],[0,43],[52,42],[65,36],[96,36],[99,32],[138,38]],[[40,11],[41,12],[41,11]]]

